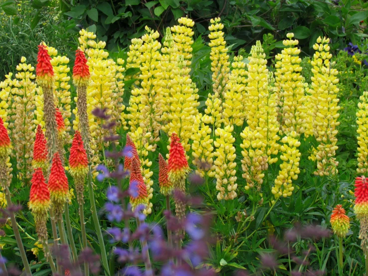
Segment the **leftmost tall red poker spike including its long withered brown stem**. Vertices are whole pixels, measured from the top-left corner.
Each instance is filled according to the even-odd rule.
[[[41,43],[38,45],[36,78],[43,92],[45,136],[47,138],[48,157],[51,160],[55,152],[58,151],[58,142],[53,92],[54,71],[50,60],[51,57],[47,52],[46,45]]]

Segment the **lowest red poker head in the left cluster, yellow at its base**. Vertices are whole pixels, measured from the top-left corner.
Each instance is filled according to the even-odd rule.
[[[45,212],[48,212],[51,201],[50,192],[47,188],[41,168],[34,169],[31,183],[32,186],[29,194],[28,207],[34,216],[42,216]]]

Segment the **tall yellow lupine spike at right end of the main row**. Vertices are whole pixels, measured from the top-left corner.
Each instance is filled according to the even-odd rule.
[[[313,45],[316,53],[311,61],[313,76],[312,89],[309,90],[311,94],[309,109],[313,110],[309,120],[313,122],[313,134],[319,142],[315,153],[317,159],[315,174],[320,176],[336,174],[338,165],[334,156],[338,149],[336,127],[340,124],[337,121],[340,116],[337,98],[339,88],[336,86],[339,79],[338,71],[332,68],[334,64],[330,62],[332,54],[329,52],[329,42],[330,39],[319,37],[317,43]]]

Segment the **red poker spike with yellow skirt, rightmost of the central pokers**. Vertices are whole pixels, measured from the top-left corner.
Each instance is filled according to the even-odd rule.
[[[185,193],[185,179],[190,171],[183,145],[176,133],[171,135],[170,151],[169,151],[169,179],[174,189]],[[184,203],[175,199],[175,209],[178,218],[184,217]]]

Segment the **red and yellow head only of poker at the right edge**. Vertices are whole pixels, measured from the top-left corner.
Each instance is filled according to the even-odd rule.
[[[355,179],[354,195],[356,197],[354,212],[358,219],[368,218],[368,181],[365,176]]]

